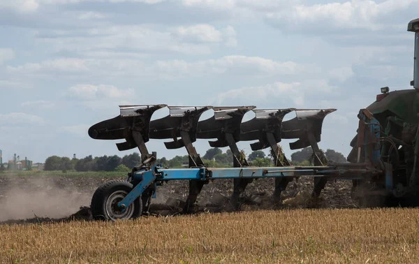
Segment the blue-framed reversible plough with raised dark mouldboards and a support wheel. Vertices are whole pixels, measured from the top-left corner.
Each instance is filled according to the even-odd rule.
[[[150,122],[156,110],[167,107],[169,115]],[[177,107],[168,105],[128,105],[120,107],[120,115],[100,122],[89,129],[91,138],[102,140],[124,139],[117,143],[119,150],[138,147],[141,166],[128,174],[128,182],[105,183],[95,193],[91,210],[94,217],[126,219],[147,213],[151,198],[156,196],[157,186],[170,180],[189,180],[189,196],[184,212],[191,212],[197,196],[205,184],[213,179],[233,179],[233,195],[230,203],[239,207],[240,193],[247,184],[257,178],[275,178],[274,199],[279,201],[281,192],[295,177],[314,177],[312,196],[319,196],[328,179],[358,179],[363,174],[378,173],[366,163],[343,163],[327,166],[327,160],[318,142],[321,140],[323,119],[335,109],[269,109],[257,110],[254,106],[242,107]],[[214,116],[198,122],[203,112],[214,110]],[[246,112],[253,110],[255,117],[242,123]],[[295,112],[296,117],[283,122],[284,116]],[[367,119],[365,111],[360,112]],[[374,120],[369,120],[374,122]],[[370,129],[365,131],[369,133]],[[286,159],[279,142],[282,138],[296,139],[291,149],[311,147],[314,166],[295,167]],[[149,139],[172,139],[165,142],[167,149],[185,147],[189,155],[189,168],[168,169],[156,164],[156,153],[150,154],[145,143]],[[197,139],[214,139],[211,147],[229,147],[233,153],[233,168],[207,168],[193,147]],[[252,150],[270,147],[274,154],[274,167],[249,166],[237,147],[239,141],[256,141]],[[367,148],[368,149],[368,148]]]

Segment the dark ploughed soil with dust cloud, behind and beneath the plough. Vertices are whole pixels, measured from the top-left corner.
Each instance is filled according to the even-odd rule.
[[[98,186],[112,178],[83,176],[6,176],[0,174],[0,223],[42,223],[91,219],[90,199]],[[125,177],[121,177],[125,179]],[[311,198],[313,178],[300,177],[290,182],[274,203],[274,179],[257,179],[240,198],[240,210],[285,210],[288,208],[354,208],[350,195],[351,181],[328,182],[318,199]],[[188,194],[188,181],[170,181],[158,186],[152,200],[151,216],[182,214]],[[219,179],[206,184],[198,196],[194,212],[231,211],[229,197],[233,179]]]

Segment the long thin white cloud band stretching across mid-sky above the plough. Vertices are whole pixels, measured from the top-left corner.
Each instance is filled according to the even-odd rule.
[[[245,75],[253,77],[296,75],[310,73],[316,68],[294,61],[274,61],[263,57],[231,55],[201,61],[166,60],[145,64],[138,59],[75,59],[61,58],[21,66],[8,66],[10,75],[35,74],[55,78],[58,74],[100,77],[133,78],[196,78],[210,75]],[[55,75],[52,75],[54,73]]]

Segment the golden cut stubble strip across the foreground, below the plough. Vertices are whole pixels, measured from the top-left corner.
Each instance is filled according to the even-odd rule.
[[[419,210],[282,210],[0,226],[3,263],[417,263]]]

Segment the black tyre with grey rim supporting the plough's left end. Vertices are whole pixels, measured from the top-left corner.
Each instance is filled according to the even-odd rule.
[[[140,197],[135,199],[124,212],[115,207],[132,189],[133,184],[121,179],[112,179],[99,186],[91,198],[90,207],[93,219],[116,221],[140,217],[142,212]]]

